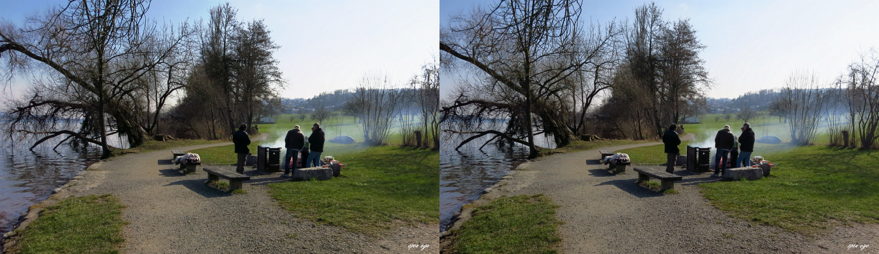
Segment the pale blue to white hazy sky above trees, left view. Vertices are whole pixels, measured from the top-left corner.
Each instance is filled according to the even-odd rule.
[[[0,0],[0,18],[18,24],[25,15],[67,1]],[[179,23],[207,19],[222,1],[152,1],[148,15]],[[408,81],[439,59],[439,1],[229,1],[238,20],[265,19],[280,49],[275,58],[289,98],[354,88],[367,72]],[[18,85],[20,87],[20,83]],[[16,92],[20,95],[20,89]]]

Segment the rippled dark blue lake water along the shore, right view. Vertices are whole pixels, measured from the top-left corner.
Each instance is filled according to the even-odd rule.
[[[447,135],[447,133],[443,133]],[[483,137],[454,150],[463,138],[444,138],[439,149],[439,229],[445,230],[455,212],[461,206],[475,201],[483,189],[491,187],[519,164],[527,161],[528,149],[524,145],[485,145]],[[542,147],[553,147],[544,136],[534,137]]]

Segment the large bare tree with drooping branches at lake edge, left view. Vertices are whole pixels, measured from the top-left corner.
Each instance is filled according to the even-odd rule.
[[[161,48],[151,47],[160,35],[155,22],[144,18],[148,3],[70,1],[45,16],[28,18],[24,28],[2,25],[0,57],[8,59],[4,65],[15,69],[39,63],[55,78],[33,89],[30,101],[10,109],[17,118],[9,131],[48,135],[35,145],[72,136],[100,145],[104,158],[112,155],[108,131],[125,135],[132,146],[140,145],[147,133],[140,125],[142,113],[135,111],[138,102],[132,98],[142,90],[137,81],[183,41],[183,36],[176,36]],[[54,123],[65,117],[84,118],[84,124],[77,131],[57,128]]]

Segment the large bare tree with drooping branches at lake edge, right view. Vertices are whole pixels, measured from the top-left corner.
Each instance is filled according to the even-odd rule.
[[[599,58],[594,56],[618,31],[609,25],[590,34],[599,37],[599,43],[584,46],[587,39],[579,23],[580,7],[573,0],[500,1],[488,11],[477,9],[453,18],[440,33],[440,59],[446,67],[461,60],[483,75],[482,81],[470,87],[475,91],[461,93],[443,107],[443,121],[481,126],[485,118],[510,119],[505,131],[447,130],[473,135],[461,145],[491,135],[491,140],[527,145],[534,158],[539,154],[536,134],[552,135],[558,146],[570,142],[574,132],[565,121],[572,114],[573,102],[563,93],[570,91],[566,81],[596,65]]]

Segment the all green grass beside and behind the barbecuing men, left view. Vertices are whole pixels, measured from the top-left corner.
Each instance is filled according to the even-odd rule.
[[[287,131],[299,124],[311,134],[311,120],[289,121],[280,116],[277,123],[259,124],[268,133],[257,145],[283,147]],[[340,145],[326,142],[322,156],[333,156],[347,163],[342,176],[323,181],[287,181],[270,184],[272,197],[294,214],[315,222],[345,227],[369,235],[381,234],[399,224],[439,222],[439,152],[398,146],[402,138],[393,133],[381,146],[363,145],[360,125],[351,117],[324,120],[326,138],[351,136],[358,143]],[[398,129],[392,130],[398,131]],[[233,165],[233,145],[194,150],[202,162]]]

